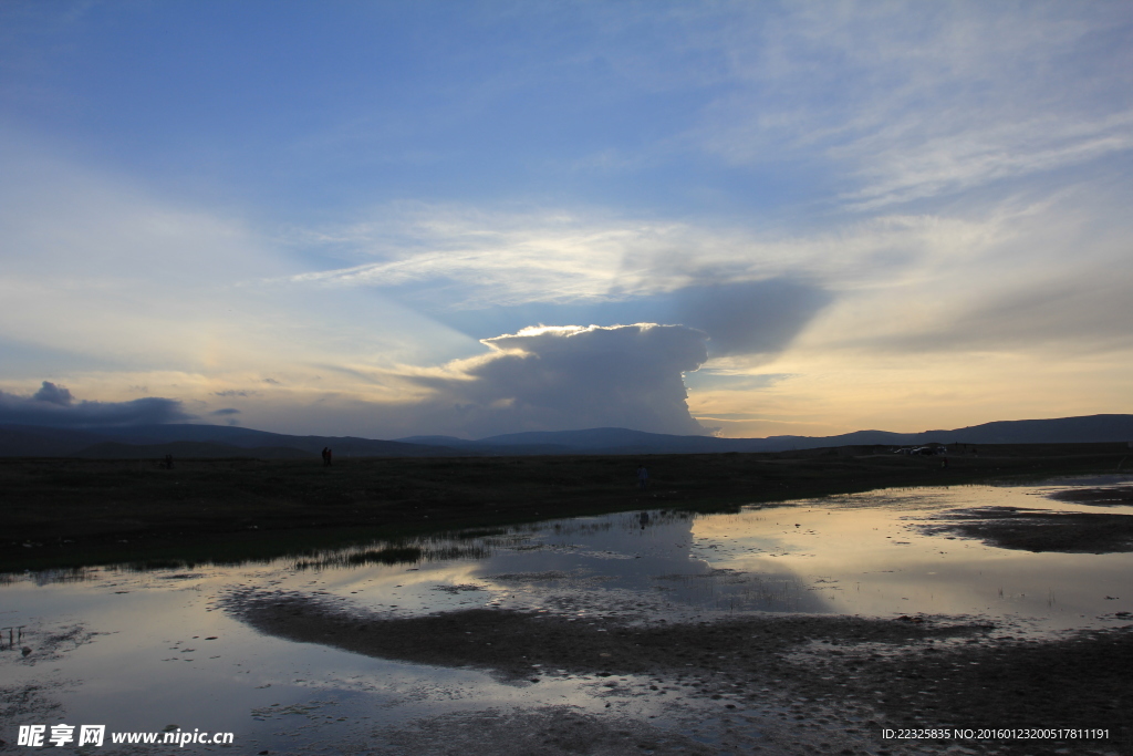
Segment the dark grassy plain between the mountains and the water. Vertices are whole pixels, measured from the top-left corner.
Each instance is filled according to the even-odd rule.
[[[321,461],[2,459],[0,571],[239,562],[373,540],[641,508],[1114,472],[1125,444],[1025,444],[908,457],[875,448],[645,457]],[[639,492],[634,470],[651,476]]]

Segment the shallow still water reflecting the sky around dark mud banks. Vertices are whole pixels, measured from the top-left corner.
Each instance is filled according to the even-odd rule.
[[[1130,478],[875,491],[731,515],[645,510],[238,567],[7,576],[0,626],[24,628],[12,643],[3,631],[0,685],[27,706],[19,721],[3,723],[0,739],[15,744],[19,724],[105,724],[108,732],[176,725],[231,731],[240,753],[384,753],[374,728],[516,707],[602,712],[611,702],[602,680],[586,676],[518,685],[475,669],[263,636],[225,612],[225,602],[248,589],[334,598],[389,617],[469,608],[580,623],[923,613],[978,618],[1016,635],[1107,627],[1133,611],[1133,554],[1012,551],[923,527],[974,507],[1133,513],[1047,498],[1099,484]],[[649,682],[620,680],[627,688]],[[658,724],[674,704],[616,703],[619,715]],[[114,748],[126,747],[107,746]],[[210,749],[229,750],[181,750]]]

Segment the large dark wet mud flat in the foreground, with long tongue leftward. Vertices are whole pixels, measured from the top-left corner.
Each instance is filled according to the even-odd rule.
[[[655,731],[639,720],[599,722],[568,710],[478,713],[472,716],[477,727],[497,734],[458,748],[458,739],[442,733],[459,731],[470,715],[445,715],[386,732],[382,740],[391,750],[383,753],[1133,750],[1133,625],[1034,640],[986,622],[934,617],[743,615],[712,623],[595,618],[583,625],[550,613],[476,609],[389,619],[344,602],[263,592],[235,594],[227,610],[262,632],[295,642],[474,666],[519,686],[581,679],[607,687],[612,697],[664,696],[666,719],[673,721],[719,716],[724,722],[717,728],[723,740],[705,746],[692,737],[692,725]],[[1109,737],[963,744],[881,739],[883,728],[944,727],[1101,728]],[[570,746],[581,742],[572,731],[603,745],[579,750]],[[501,750],[500,744],[508,747]]]

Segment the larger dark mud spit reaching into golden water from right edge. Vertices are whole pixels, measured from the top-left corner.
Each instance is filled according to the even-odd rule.
[[[1091,502],[1093,503],[1093,502]],[[1133,551],[1133,515],[1051,512],[1019,507],[955,509],[943,521],[920,526],[926,534],[955,534],[999,549],[1110,554]]]

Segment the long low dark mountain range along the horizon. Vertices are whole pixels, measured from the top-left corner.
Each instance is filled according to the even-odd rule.
[[[453,457],[522,455],[658,455],[790,451],[825,447],[904,447],[927,443],[1089,443],[1133,442],[1133,415],[1090,415],[1056,419],[999,421],[951,431],[891,433],[855,431],[833,436],[778,435],[718,439],[668,435],[629,428],[508,433],[470,441],[419,435],[393,441],[355,436],[287,435],[228,425],[134,425],[61,428],[0,425],[0,457],[152,459],[316,457],[324,447],[335,458]]]

